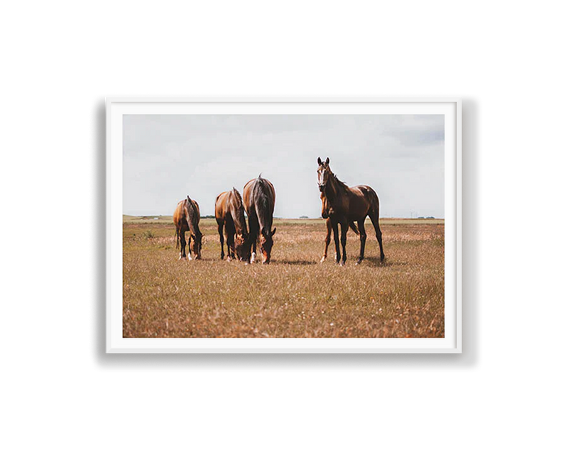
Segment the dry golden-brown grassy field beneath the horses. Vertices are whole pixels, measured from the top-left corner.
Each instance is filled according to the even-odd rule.
[[[158,217],[158,219],[154,219]],[[202,219],[203,260],[178,260],[171,216],[123,218],[125,338],[439,338],[444,221],[381,219],[386,260],[367,221],[365,260],[349,231],[346,266],[327,261],[322,219],[276,219],[271,265],[220,260]]]

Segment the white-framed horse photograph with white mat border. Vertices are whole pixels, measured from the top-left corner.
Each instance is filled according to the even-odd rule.
[[[467,92],[107,92],[106,352],[464,353]]]

